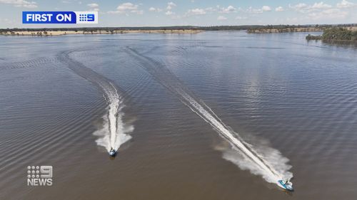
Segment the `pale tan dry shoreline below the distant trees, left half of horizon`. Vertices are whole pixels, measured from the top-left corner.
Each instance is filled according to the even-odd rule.
[[[193,34],[201,33],[201,30],[91,30],[91,31],[0,31],[0,35],[4,36],[64,36],[68,34],[123,34],[123,33],[179,33],[179,34]]]

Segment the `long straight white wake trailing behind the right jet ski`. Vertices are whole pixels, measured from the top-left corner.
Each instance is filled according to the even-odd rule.
[[[240,150],[243,152],[243,159],[248,158],[253,162],[255,166],[251,166],[250,163],[245,162],[246,160],[235,159],[232,156],[232,152],[228,152],[228,154],[224,154],[223,157],[238,164],[242,169],[250,169],[253,174],[261,174],[266,181],[277,183],[279,179],[286,179],[288,177],[292,177],[291,172],[287,172],[290,169],[290,166],[286,165],[288,159],[281,157],[280,152],[278,150],[273,149],[274,155],[273,157],[278,157],[281,159],[281,163],[274,164],[283,164],[284,166],[277,167],[279,168],[279,172],[274,169],[273,166],[266,160],[268,157],[263,157],[263,155],[258,154],[258,152],[254,151],[251,144],[244,142],[241,137],[239,137],[238,133],[230,130],[221,119],[208,107],[204,102],[195,98],[188,88],[186,88],[176,75],[171,73],[169,69],[167,69],[164,65],[159,63],[156,60],[148,58],[139,54],[137,51],[131,48],[126,48],[127,53],[131,56],[134,56],[141,62],[141,67],[145,68],[151,75],[154,76],[159,83],[168,88],[174,95],[176,95],[183,104],[189,107],[193,112],[195,112],[199,117],[208,122],[209,125],[216,130],[221,137],[225,138],[233,147],[233,149]],[[201,102],[201,103],[200,103]],[[270,148],[271,149],[271,148]],[[272,157],[272,156],[270,156]],[[243,163],[244,162],[244,163]],[[258,167],[258,169],[257,169]],[[257,171],[258,170],[258,171]]]

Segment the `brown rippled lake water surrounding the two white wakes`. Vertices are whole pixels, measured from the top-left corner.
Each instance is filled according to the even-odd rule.
[[[356,199],[357,49],[305,35],[1,36],[0,199]],[[106,83],[134,127],[115,159],[94,135]],[[293,173],[295,191],[266,181],[180,91]],[[40,165],[52,186],[27,185]]]

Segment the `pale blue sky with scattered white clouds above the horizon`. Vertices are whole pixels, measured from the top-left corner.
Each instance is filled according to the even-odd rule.
[[[94,26],[357,23],[357,0],[0,0],[0,28],[80,26],[22,24],[22,11],[99,11]]]

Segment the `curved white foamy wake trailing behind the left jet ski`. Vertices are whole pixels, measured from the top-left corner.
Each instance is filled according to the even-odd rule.
[[[110,80],[72,59],[69,56],[72,52],[74,51],[59,53],[59,60],[66,63],[74,73],[89,80],[96,88],[99,88],[108,104],[107,113],[103,116],[103,126],[100,130],[94,132],[94,135],[99,137],[96,144],[105,147],[108,152],[111,148],[117,150],[121,144],[131,139],[128,133],[134,130],[132,125],[125,125],[123,122],[124,112],[122,110],[125,107],[123,99]]]

